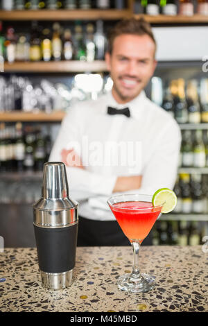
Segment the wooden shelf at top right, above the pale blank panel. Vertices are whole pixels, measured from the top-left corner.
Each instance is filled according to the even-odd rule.
[[[150,24],[208,24],[208,15],[193,16],[150,16],[150,15],[134,15],[135,18],[144,17]]]

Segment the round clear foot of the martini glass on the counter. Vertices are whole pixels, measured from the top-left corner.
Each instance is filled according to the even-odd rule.
[[[117,285],[120,290],[130,293],[148,292],[155,285],[155,276],[143,273],[136,278],[132,274],[124,274],[117,280]]]

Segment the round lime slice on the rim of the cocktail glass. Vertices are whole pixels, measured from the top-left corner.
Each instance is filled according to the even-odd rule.
[[[153,206],[162,206],[162,213],[172,212],[177,204],[175,192],[168,188],[161,188],[155,191],[152,199]]]

